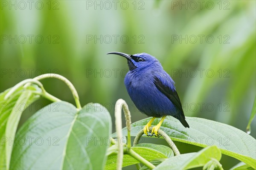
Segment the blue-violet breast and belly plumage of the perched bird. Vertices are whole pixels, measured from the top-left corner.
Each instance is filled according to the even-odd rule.
[[[143,75],[144,74],[144,75]],[[175,115],[178,110],[175,105],[161,93],[154,85],[154,77],[160,77],[157,71],[142,74],[134,74],[129,71],[125,76],[125,87],[131,100],[136,107],[148,116],[162,117],[164,115]],[[169,81],[166,79],[166,82]],[[162,81],[164,82],[164,80]],[[174,89],[172,81],[169,81],[170,89]]]

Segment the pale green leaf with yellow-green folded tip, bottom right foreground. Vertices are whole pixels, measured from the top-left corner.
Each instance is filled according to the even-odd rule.
[[[186,153],[163,161],[155,170],[187,170],[202,167],[208,161],[221,159],[221,151],[216,146],[206,147],[198,153]]]

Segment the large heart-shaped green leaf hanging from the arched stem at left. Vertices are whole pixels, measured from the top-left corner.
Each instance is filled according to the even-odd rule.
[[[89,103],[77,111],[70,103],[54,102],[18,131],[11,169],[102,169],[111,128],[102,105]]]

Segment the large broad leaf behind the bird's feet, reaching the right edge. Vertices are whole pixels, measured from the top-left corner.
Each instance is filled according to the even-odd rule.
[[[149,120],[150,118],[134,122],[131,125],[131,136],[136,136]],[[194,144],[200,147],[216,145],[220,148],[221,153],[232,156],[256,168],[256,140],[252,136],[236,127],[212,120],[196,117],[186,117],[186,120],[190,128],[183,127],[177,119],[168,116],[160,129],[174,141]],[[160,119],[156,119],[152,126],[157,125],[159,121]],[[126,128],[123,129],[123,134],[127,135]]]

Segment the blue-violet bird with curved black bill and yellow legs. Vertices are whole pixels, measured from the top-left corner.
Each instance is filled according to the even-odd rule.
[[[125,54],[109,52],[127,59],[129,71],[125,75],[126,90],[138,110],[152,119],[145,125],[143,132],[147,136],[160,137],[157,132],[166,116],[178,119],[184,127],[189,128],[185,120],[180,98],[175,89],[175,82],[164,71],[161,63],[147,53]],[[149,130],[154,119],[162,117],[160,122]],[[151,133],[148,135],[148,133]]]

